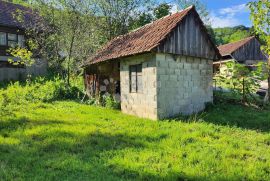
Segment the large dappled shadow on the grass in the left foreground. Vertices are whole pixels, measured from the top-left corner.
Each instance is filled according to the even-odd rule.
[[[15,123],[15,124],[14,124]],[[65,124],[64,121],[35,121],[26,118],[10,120],[14,125],[9,132],[25,130],[40,125]],[[74,126],[78,125],[77,123]],[[73,126],[72,123],[70,126]],[[3,126],[4,129],[9,125]],[[16,128],[16,129],[15,129]],[[65,130],[42,130],[34,134],[23,134],[19,143],[0,143],[0,180],[164,180],[166,178],[146,173],[143,170],[122,168],[111,164],[115,156],[124,156],[125,151],[140,152],[149,142],[158,142],[166,135],[143,136],[110,134],[93,130],[88,134],[77,134]],[[39,130],[39,129],[38,129]],[[0,130],[1,131],[1,130]],[[4,165],[4,166],[3,166]],[[5,171],[3,171],[3,169]],[[170,173],[170,178],[187,178]],[[183,179],[182,179],[183,180]]]

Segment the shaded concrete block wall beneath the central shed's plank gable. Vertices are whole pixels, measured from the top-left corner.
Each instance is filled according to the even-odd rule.
[[[159,119],[196,113],[213,101],[212,63],[202,58],[156,54]]]

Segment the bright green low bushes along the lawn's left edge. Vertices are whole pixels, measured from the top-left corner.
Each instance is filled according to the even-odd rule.
[[[75,86],[66,86],[58,77],[52,80],[36,78],[26,83],[10,83],[0,89],[0,107],[17,108],[27,103],[52,102],[65,99],[79,99],[81,91]]]

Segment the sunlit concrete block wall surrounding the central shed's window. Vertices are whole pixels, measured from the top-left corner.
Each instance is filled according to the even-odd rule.
[[[143,90],[130,92],[129,66],[142,64]],[[121,109],[127,114],[157,119],[157,76],[155,55],[145,54],[122,59],[120,62]]]

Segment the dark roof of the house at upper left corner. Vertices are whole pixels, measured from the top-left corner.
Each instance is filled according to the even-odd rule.
[[[1,26],[26,29],[33,27],[34,23],[39,22],[41,19],[31,8],[22,5],[0,0],[0,7]]]

